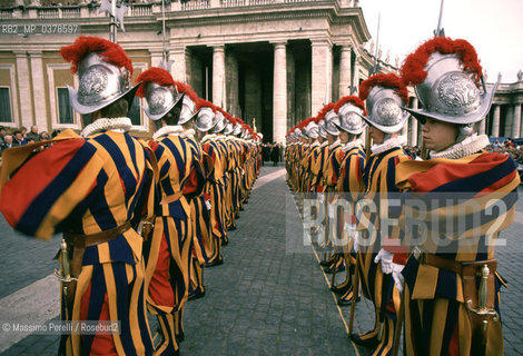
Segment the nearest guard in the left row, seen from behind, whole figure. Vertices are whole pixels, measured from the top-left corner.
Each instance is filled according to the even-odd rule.
[[[147,146],[127,134],[137,89],[132,63],[119,44],[97,37],[81,36],[60,52],[79,77],[69,97],[85,116],[81,137],[66,130],[6,151],[0,210],[26,235],[49,240],[63,234],[56,273],[62,320],[120,323],[108,335],[63,335],[60,355],[152,355],[137,226],[144,211],[152,216],[147,202],[155,167]]]

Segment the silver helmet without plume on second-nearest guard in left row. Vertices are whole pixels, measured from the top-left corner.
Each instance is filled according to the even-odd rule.
[[[178,95],[174,86],[160,86],[151,81],[146,82],[145,86],[145,99],[148,108],[142,108],[142,110],[151,120],[161,119],[177,103],[181,103],[184,95]]]

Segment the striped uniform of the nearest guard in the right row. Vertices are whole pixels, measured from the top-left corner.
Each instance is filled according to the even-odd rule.
[[[510,155],[476,154],[461,159],[401,164],[397,184],[404,190],[416,192],[409,198],[423,197],[436,202],[431,207],[435,214],[430,215],[431,221],[426,225],[427,238],[418,246],[441,258],[470,264],[494,258],[495,245],[489,244],[486,235],[492,234],[495,241],[499,233],[512,224],[520,176]],[[445,206],[440,206],[440,201]],[[497,201],[503,208],[492,210],[486,208],[486,201],[490,205]],[[465,205],[471,202],[476,204],[475,208],[465,209]],[[458,231],[448,229],[448,216],[467,221],[466,228]],[[436,230],[435,227],[441,225],[447,228]],[[411,238],[408,234],[404,245],[412,246],[414,243],[407,238]],[[470,318],[473,313],[466,310],[466,289],[461,274],[418,263],[412,255],[403,275],[407,355],[503,354],[501,322],[489,320],[485,345],[481,344],[477,334],[473,336]],[[501,284],[503,280],[495,274],[495,293],[492,295],[490,290],[489,299],[494,299],[497,313]],[[476,278],[476,285],[480,285],[480,278]]]

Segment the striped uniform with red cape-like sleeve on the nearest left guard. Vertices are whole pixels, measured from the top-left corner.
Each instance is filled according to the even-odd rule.
[[[70,139],[59,141],[65,137]],[[56,233],[92,235],[139,220],[135,211],[141,209],[152,166],[147,147],[128,134],[107,131],[83,139],[67,130],[28,160],[11,152],[14,161],[4,152],[2,170],[17,170],[2,188],[0,210],[17,230],[50,239]],[[66,308],[61,295],[61,318],[120,322],[120,333],[65,336],[60,353],[152,354],[141,249],[142,238],[134,228],[86,247],[72,307]]]

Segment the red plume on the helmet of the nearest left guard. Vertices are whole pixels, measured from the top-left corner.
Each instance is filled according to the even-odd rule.
[[[97,52],[103,59],[118,68],[125,67],[132,75],[132,62],[126,51],[118,43],[114,43],[100,37],[80,36],[72,44],[60,49],[61,57],[71,62],[71,71],[78,71],[78,65],[89,53]]]

